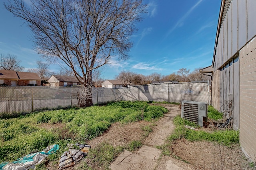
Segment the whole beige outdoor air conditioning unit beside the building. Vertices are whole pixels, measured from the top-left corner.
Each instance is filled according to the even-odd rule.
[[[182,101],[181,117],[203,126],[207,122],[208,104],[204,102]]]

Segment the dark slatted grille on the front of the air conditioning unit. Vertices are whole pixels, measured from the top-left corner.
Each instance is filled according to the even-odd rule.
[[[198,104],[184,103],[183,118],[198,124]]]

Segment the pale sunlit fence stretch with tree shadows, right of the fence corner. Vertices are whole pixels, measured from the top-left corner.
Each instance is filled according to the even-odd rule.
[[[150,84],[118,88],[123,100],[175,102],[192,100],[210,104],[210,81],[188,83]]]

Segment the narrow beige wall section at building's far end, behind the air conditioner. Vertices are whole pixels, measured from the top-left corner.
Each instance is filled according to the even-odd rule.
[[[212,81],[212,106],[220,110],[220,70],[213,73]]]

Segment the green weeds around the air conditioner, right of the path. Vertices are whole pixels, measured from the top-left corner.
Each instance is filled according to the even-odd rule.
[[[222,119],[223,113],[219,113],[214,107],[208,106],[208,117],[215,121]],[[173,156],[178,158],[174,153],[171,152],[170,147],[175,140],[186,139],[188,141],[211,141],[231,147],[234,144],[239,144],[239,131],[230,129],[215,130],[212,132],[206,132],[202,130],[187,129],[184,126],[188,125],[194,128],[200,128],[196,123],[190,122],[186,119],[182,119],[180,115],[174,117],[174,132],[167,138],[166,144],[159,146],[158,149],[162,150],[162,155]]]

